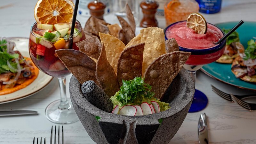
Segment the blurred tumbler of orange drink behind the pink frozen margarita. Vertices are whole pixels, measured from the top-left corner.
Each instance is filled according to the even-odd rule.
[[[173,3],[169,4],[171,1]],[[177,21],[187,20],[188,16],[194,12],[199,12],[199,5],[195,0],[168,0],[164,5],[166,26]]]

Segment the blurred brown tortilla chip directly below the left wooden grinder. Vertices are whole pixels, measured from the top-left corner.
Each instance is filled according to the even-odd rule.
[[[99,36],[99,32],[100,32],[100,27],[101,25],[108,25],[105,20],[100,20],[97,19],[93,16],[91,16],[87,22],[85,23],[85,27],[84,27],[84,31],[86,31],[86,33],[92,33],[93,35]]]

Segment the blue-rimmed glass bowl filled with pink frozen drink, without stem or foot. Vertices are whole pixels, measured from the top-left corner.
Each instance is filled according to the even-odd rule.
[[[207,32],[197,34],[193,29],[187,27],[186,22],[173,23],[164,30],[165,39],[175,38],[180,51],[191,52],[186,64],[199,66],[218,60],[225,50],[226,40],[217,45],[214,43],[224,36],[222,30],[207,23]]]

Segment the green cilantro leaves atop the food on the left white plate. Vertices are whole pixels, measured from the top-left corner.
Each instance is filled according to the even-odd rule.
[[[0,41],[0,45],[6,44],[6,43],[7,43],[7,41],[4,39],[2,41]],[[7,52],[6,45],[0,46],[0,74],[4,73],[4,71],[11,71],[12,73],[16,72],[13,69],[9,68],[7,65],[7,60],[8,60],[13,68],[17,68],[17,63],[12,62],[12,60],[15,58],[19,58],[19,54],[17,54],[17,53],[9,54]]]

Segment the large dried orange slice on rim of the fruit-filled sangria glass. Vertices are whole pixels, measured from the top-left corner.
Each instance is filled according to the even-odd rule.
[[[34,9],[37,23],[71,22],[75,5],[70,0],[39,0]]]

